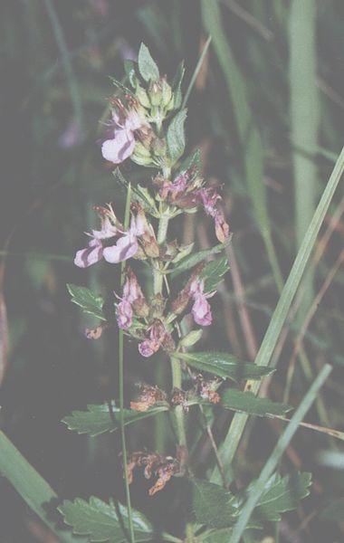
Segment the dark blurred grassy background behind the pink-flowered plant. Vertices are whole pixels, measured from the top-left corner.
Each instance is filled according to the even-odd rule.
[[[204,350],[254,359],[305,222],[342,145],[342,3],[224,0],[215,3],[218,13],[212,7],[213,0],[7,0],[0,7],[5,75],[0,423],[67,499],[124,497],[117,434],[79,436],[60,423],[72,410],[118,395],[116,334],[86,340],[83,329],[96,321],[70,303],[65,287],[67,282],[83,283],[105,296],[104,285],[119,285],[114,267],[101,264],[97,273],[86,273],[72,264],[82,231],[93,220],[91,206],[114,201],[119,214],[124,209],[124,195],[96,144],[113,91],[108,75],[120,78],[123,58],[135,55],[143,41],[169,76],[185,58],[190,78],[208,33],[213,35],[188,102],[186,144],[190,151],[202,149],[205,175],[224,185],[234,237],[228,251],[231,273],[216,297],[215,324]],[[131,163],[123,171],[132,180],[145,181]],[[339,189],[275,350],[278,371],[264,389],[272,400],[299,405],[323,363],[335,364],[307,420],[339,430],[342,198]],[[214,243],[212,229],[200,216],[180,223],[176,235],[186,243],[195,241],[200,249]],[[159,367],[129,345],[126,396],[132,397],[138,381],[163,382]],[[225,412],[216,420],[217,443],[231,416]],[[234,461],[239,486],[260,471],[282,424],[252,419]],[[196,438],[202,428],[190,426]],[[159,444],[158,428],[161,424],[150,419],[130,428],[129,448]],[[314,483],[298,513],[283,516],[281,541],[342,538],[340,445],[326,432],[297,433],[285,466],[313,472]],[[165,446],[167,451],[172,446],[168,435]],[[192,451],[192,462],[199,477],[214,465],[206,438]],[[133,505],[155,523],[168,510],[164,528],[179,535],[182,485],[172,481],[148,500],[148,483],[138,477]],[[53,541],[5,479],[0,497],[1,540]]]

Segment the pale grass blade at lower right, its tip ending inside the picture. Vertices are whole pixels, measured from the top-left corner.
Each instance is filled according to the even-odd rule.
[[[283,452],[288,447],[289,443],[291,443],[291,439],[294,433],[297,431],[299,424],[301,423],[304,415],[310,409],[311,404],[313,403],[314,399],[316,398],[317,393],[320,390],[320,387],[323,385],[327,377],[330,375],[331,371],[332,371],[332,367],[330,366],[330,364],[326,364],[321,369],[320,374],[314,380],[307,394],[303,397],[301,404],[299,405],[299,407],[295,411],[295,414],[291,418],[290,424],[288,424],[287,428],[282,433],[270,457],[265,462],[265,465],[263,467],[263,470],[260,476],[258,477],[257,481],[255,481],[252,491],[250,493],[250,496],[248,500],[245,502],[243,509],[241,510],[240,518],[237,520],[237,522],[234,525],[233,533],[229,540],[229,543],[239,543],[244,533],[244,529],[246,528],[247,523],[251,518],[253,510],[255,506],[257,505],[261,495],[263,494],[264,487],[267,481],[272,476],[272,473],[276,469],[278,462],[280,462]]]

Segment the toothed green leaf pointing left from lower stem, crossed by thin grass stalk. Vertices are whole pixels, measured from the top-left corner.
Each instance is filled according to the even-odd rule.
[[[112,405],[110,414],[109,405],[87,405],[88,411],[72,411],[72,414],[65,416],[62,423],[67,424],[69,430],[77,433],[88,433],[95,436],[100,433],[114,432],[119,429],[119,407]],[[158,405],[151,407],[148,411],[139,413],[131,409],[124,409],[124,424],[136,423],[148,416],[167,411],[167,406]]]

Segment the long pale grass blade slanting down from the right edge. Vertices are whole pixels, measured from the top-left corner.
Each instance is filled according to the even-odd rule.
[[[261,348],[259,349],[259,352],[255,359],[255,363],[259,366],[268,366],[270,364],[273,350],[276,347],[282,327],[285,320],[287,319],[288,312],[291,308],[291,302],[295,296],[298,287],[300,286],[303,273],[306,269],[307,263],[310,260],[311,251],[314,247],[317,235],[320,231],[320,226],[325,218],[325,215],[328,212],[332,196],[334,195],[334,192],[339,185],[339,181],[343,174],[343,171],[344,148],[342,148],[336,165],[333,168],[329,182],[321,196],[320,203],[315,211],[315,214],[313,215],[307,233],[303,238],[303,242],[301,243],[299,252],[292,265],[291,272],[283,288],[280,300],[277,303],[268,329],[265,332]],[[250,386],[250,390],[254,394],[258,393],[259,384],[250,381],[248,382],[248,386]],[[239,445],[241,436],[244,433],[244,427],[247,422],[247,418],[247,414],[234,414],[233,421],[225,437],[225,441],[220,449],[220,455],[225,464],[225,468],[233,462],[234,454]],[[213,472],[211,481],[219,481],[219,474],[217,468],[215,468],[215,471]]]

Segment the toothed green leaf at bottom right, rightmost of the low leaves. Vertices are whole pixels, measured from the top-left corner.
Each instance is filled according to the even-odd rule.
[[[245,495],[250,494],[254,483],[255,481],[245,489]],[[277,472],[273,473],[253,511],[253,519],[278,522],[281,520],[281,513],[296,509],[300,500],[309,495],[310,485],[309,472],[294,472],[284,477]]]

